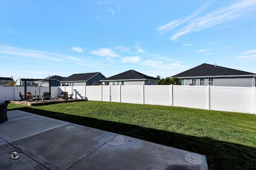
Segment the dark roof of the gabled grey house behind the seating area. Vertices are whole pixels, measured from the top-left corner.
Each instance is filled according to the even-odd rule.
[[[90,72],[90,73],[73,74],[67,78],[62,79],[61,82],[80,82],[80,81],[85,82],[98,74],[101,74],[101,73],[100,72]],[[103,74],[101,74],[101,75],[102,75],[102,79],[106,78]]]

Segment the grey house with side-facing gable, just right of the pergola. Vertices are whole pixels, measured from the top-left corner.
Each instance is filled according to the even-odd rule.
[[[104,80],[106,77],[100,72],[73,74],[67,78],[61,80],[61,86],[93,86],[100,85],[100,80]]]

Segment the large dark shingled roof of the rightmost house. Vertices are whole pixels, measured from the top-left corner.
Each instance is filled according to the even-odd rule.
[[[212,64],[201,64],[172,77],[196,77],[196,76],[245,76],[253,75],[255,73],[235,70],[222,66],[215,66]]]

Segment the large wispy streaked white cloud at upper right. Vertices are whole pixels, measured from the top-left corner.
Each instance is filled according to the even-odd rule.
[[[178,39],[181,35],[201,31],[203,29],[228,23],[230,21],[240,21],[243,18],[254,16],[256,13],[256,1],[234,1],[229,6],[219,8],[202,17],[195,18],[202,10],[211,5],[212,2],[206,3],[202,8],[185,19],[175,20],[166,25],[158,27],[160,33],[169,31],[174,27],[183,25],[176,33],[172,35],[171,40]]]

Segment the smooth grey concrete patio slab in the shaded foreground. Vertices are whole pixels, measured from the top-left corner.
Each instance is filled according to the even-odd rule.
[[[4,170],[208,170],[206,157],[24,111],[0,124]]]

